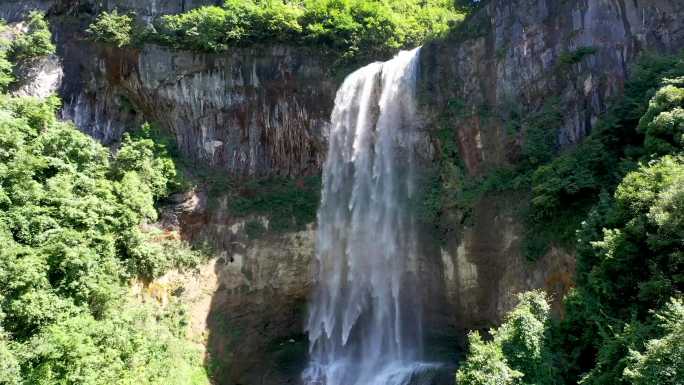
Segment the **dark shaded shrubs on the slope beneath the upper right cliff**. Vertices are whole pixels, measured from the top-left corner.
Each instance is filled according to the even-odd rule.
[[[665,99],[676,98],[672,88],[675,86],[659,92],[661,96],[650,103],[650,108],[649,99],[663,79],[681,75],[681,57],[643,57],[633,69],[623,99],[600,119],[592,133],[576,148],[531,169],[532,198],[526,214],[528,236],[524,240],[529,259],[546,254],[552,243],[572,247],[575,230],[603,191],[612,192],[644,152],[656,151],[656,143],[663,145],[661,140],[670,143],[670,147],[663,145],[661,155],[673,150],[677,130],[681,128],[676,120],[678,110],[672,110],[672,103],[676,102],[668,104]],[[659,115],[659,122],[669,125],[669,131],[665,126],[654,126],[652,121]],[[659,134],[658,130],[667,133]],[[646,134],[645,141],[642,133]]]

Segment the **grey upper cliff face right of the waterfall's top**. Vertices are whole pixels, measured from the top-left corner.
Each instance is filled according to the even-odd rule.
[[[452,128],[471,173],[515,162],[525,138],[505,123],[552,100],[563,115],[558,142],[571,146],[621,93],[639,54],[684,46],[682,16],[676,0],[491,1],[423,48],[425,109],[459,103],[464,118]]]

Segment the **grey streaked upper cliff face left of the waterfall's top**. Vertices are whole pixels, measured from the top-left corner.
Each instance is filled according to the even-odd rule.
[[[296,176],[320,169],[336,87],[309,52],[64,47],[72,85],[65,88],[64,116],[105,143],[146,120],[172,133],[189,159],[227,173]]]

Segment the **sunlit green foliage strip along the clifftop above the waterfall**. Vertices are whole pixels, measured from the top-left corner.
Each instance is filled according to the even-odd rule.
[[[450,0],[226,0],[166,15],[134,31],[130,16],[102,14],[90,33],[99,41],[154,41],[217,52],[258,43],[306,45],[339,54],[339,63],[377,60],[447,32],[463,11]]]

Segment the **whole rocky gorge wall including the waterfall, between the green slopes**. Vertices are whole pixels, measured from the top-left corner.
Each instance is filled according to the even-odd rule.
[[[543,289],[563,317],[576,251],[551,241],[527,255],[526,192],[493,188],[438,219],[416,201],[446,161],[458,188],[529,162],[535,124],[554,154],[573,150],[640,57],[684,49],[679,0],[491,0],[420,49],[350,69],[281,42],[198,52],[85,32],[104,11],[146,25],[216,4],[3,0],[0,18],[50,21],[56,54],[20,92],[58,94],[59,117],[107,147],[146,122],[172,139],[195,183],[160,200],[150,226],[211,257],[137,290],[188,301],[220,385],[451,384],[421,373],[452,369],[467,332],[501,324],[519,293]],[[278,189],[306,215],[258,206]]]

